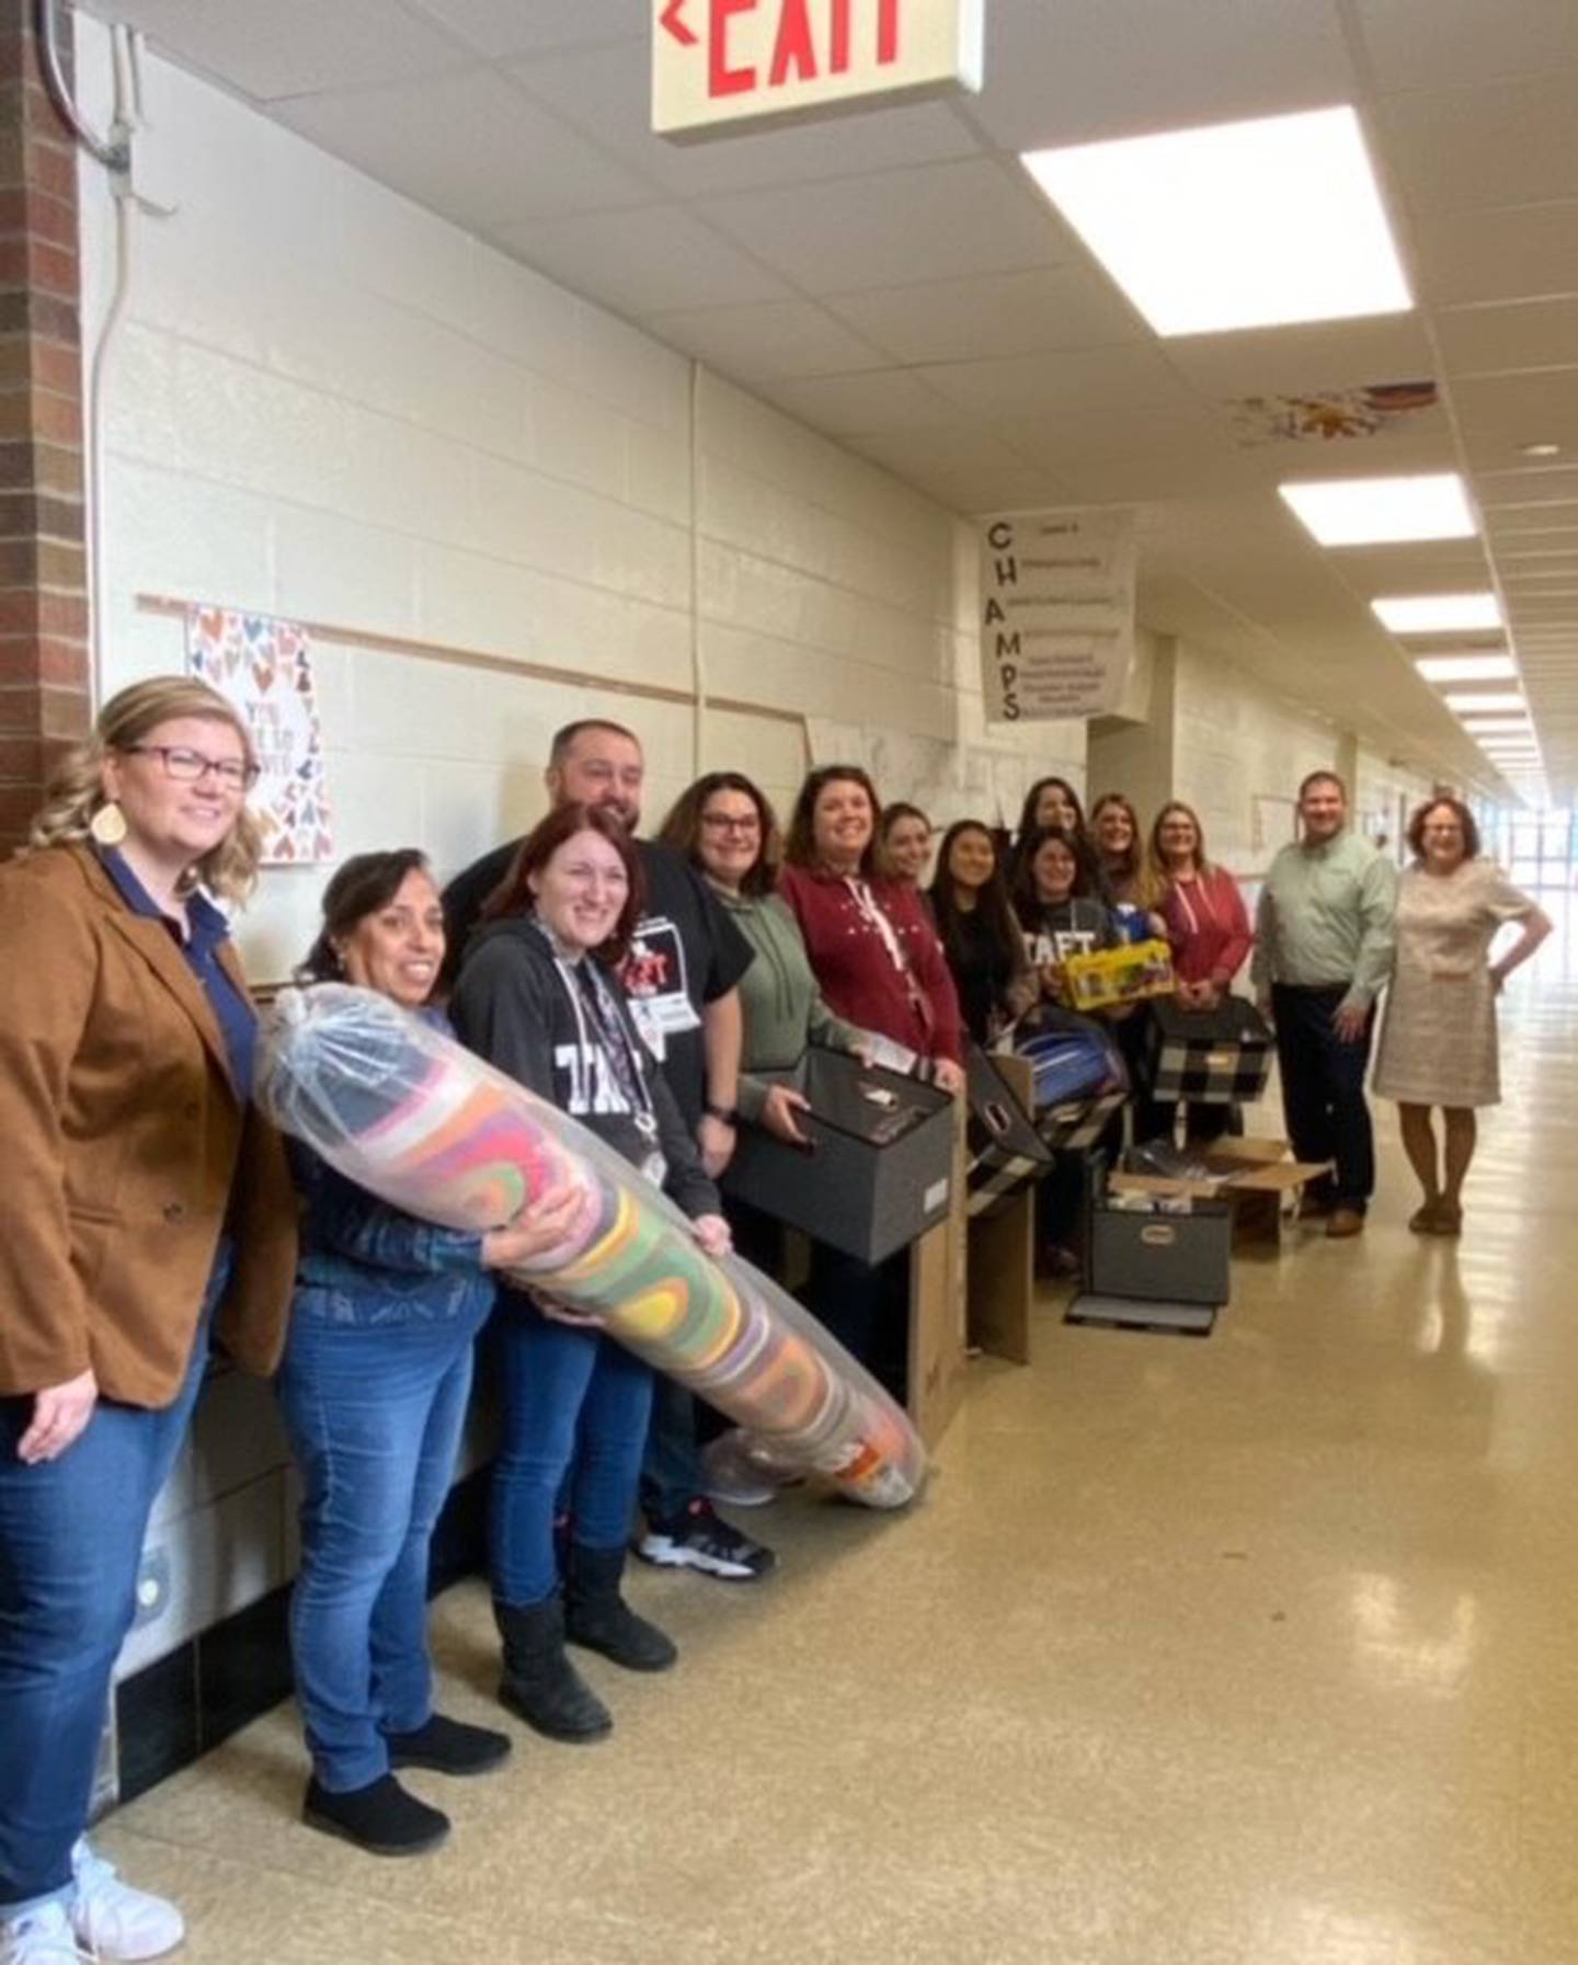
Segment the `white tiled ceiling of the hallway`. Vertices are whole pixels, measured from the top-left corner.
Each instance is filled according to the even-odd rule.
[[[1578,778],[1578,0],[986,0],[979,96],[676,147],[650,0],[90,0],[324,149],[959,511],[1142,507],[1142,617],[1490,782],[1378,593],[1490,576]],[[1354,102],[1419,309],[1161,342],[1026,147]],[[1370,440],[1224,399],[1435,379]],[[1560,456],[1535,462],[1531,442]],[[1323,552],[1289,476],[1462,470],[1484,542]]]

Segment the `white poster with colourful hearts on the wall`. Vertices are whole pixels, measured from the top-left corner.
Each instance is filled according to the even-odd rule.
[[[307,629],[232,607],[189,607],[187,668],[228,698],[252,731],[263,776],[248,804],[263,827],[263,865],[332,859]]]

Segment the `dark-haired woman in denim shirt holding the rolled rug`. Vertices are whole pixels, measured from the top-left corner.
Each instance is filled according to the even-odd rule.
[[[322,898],[297,977],[377,990],[448,1030],[428,1004],[444,910],[415,849],[360,853]],[[375,1855],[417,1855],[448,1818],[403,1767],[481,1774],[509,1739],[432,1710],[428,1550],[454,1478],[472,1346],[493,1271],[564,1240],[562,1187],[489,1234],[432,1228],[377,1201],[291,1140],[301,1258],[279,1405],[301,1470],[301,1568],[291,1596],[297,1704],[312,1751],[303,1820]]]

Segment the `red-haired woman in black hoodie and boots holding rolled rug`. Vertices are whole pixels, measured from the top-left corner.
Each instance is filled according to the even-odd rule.
[[[717,1189],[631,1022],[615,979],[641,912],[641,863],[621,823],[560,806],[521,843],[472,941],[450,1014],[464,1043],[578,1118],[729,1248]],[[503,1702],[550,1739],[613,1725],[564,1655],[566,1639],[656,1672],[674,1645],[619,1594],[652,1372],[595,1320],[507,1289],[505,1440],[493,1474],[493,1611]],[[566,1574],[554,1515],[568,1484]]]

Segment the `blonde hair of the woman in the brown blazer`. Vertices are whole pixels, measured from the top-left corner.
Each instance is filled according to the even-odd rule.
[[[248,764],[257,764],[252,731],[242,713],[218,690],[197,676],[153,676],[120,690],[98,711],[92,735],[73,745],[49,774],[43,804],[28,829],[28,845],[18,859],[45,847],[61,847],[88,837],[92,817],[108,800],[100,766],[106,753],[130,751],[159,723],[175,717],[206,717],[226,723],[240,739]],[[257,819],[242,806],[226,837],[181,876],[181,892],[206,886],[220,900],[246,900],[257,880],[263,857],[263,833]]]

